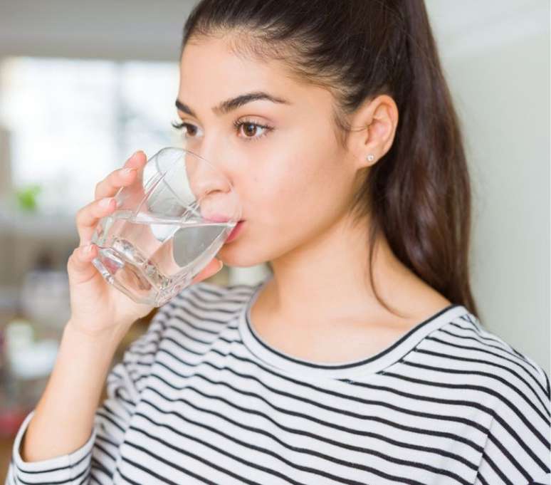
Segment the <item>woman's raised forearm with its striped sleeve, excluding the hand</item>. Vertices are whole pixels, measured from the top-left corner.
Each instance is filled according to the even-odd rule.
[[[62,369],[55,377],[54,369],[48,395],[44,393],[21,425],[6,485],[52,482],[84,485],[91,477],[95,479],[93,483],[112,483],[119,447],[154,362],[169,311],[154,315],[147,332],[130,345],[122,362],[107,374],[107,399],[97,409],[105,382],[105,377],[100,380],[100,376],[107,372],[115,344],[111,340],[86,340],[83,346],[81,335],[73,330],[64,331],[56,367],[63,360],[70,368]],[[27,433],[38,406],[43,406],[43,421],[37,422],[31,442]],[[48,410],[52,412],[49,417]],[[61,437],[66,441],[61,443]],[[51,452],[54,447],[55,455]]]

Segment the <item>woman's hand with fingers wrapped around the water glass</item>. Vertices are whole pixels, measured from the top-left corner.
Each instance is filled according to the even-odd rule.
[[[147,315],[153,306],[135,303],[114,286],[107,283],[92,260],[98,256],[98,246],[90,244],[98,221],[115,212],[116,203],[112,198],[120,187],[136,181],[147,158],[144,152],[136,152],[120,170],[115,170],[95,187],[95,200],[80,209],[76,216],[76,226],[80,236],[78,248],[70,255],[67,264],[70,288],[71,316],[69,325],[88,335],[117,335],[122,338],[138,318]],[[90,244],[90,246],[88,246]],[[90,247],[90,251],[86,251]],[[191,284],[198,283],[217,273],[221,261],[213,259]]]

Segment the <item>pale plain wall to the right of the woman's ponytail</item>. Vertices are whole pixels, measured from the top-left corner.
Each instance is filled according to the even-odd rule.
[[[428,0],[475,189],[481,320],[550,370],[550,4]]]

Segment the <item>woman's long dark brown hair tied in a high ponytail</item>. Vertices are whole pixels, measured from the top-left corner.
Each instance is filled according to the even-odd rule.
[[[226,36],[236,54],[277,59],[297,80],[330,90],[343,144],[354,129],[347,118],[362,103],[379,94],[394,99],[394,142],[351,207],[355,221],[369,216],[370,281],[375,288],[371,263],[382,233],[411,271],[478,315],[469,283],[468,166],[424,1],[201,0],[184,26],[182,51],[190,38],[209,36]]]

